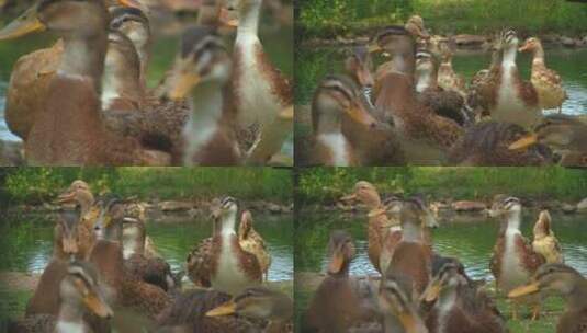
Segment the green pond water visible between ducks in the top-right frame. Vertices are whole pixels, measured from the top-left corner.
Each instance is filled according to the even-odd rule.
[[[546,65],[558,72],[568,100],[563,113],[587,114],[587,49],[546,49]],[[342,72],[346,53],[334,48],[302,48],[296,54],[296,103],[307,104],[320,78],[328,73]],[[455,72],[469,82],[481,69],[490,64],[490,54],[482,51],[458,53],[453,58]],[[381,64],[382,59],[375,59]],[[531,56],[519,54],[518,68],[524,79],[530,78]]]

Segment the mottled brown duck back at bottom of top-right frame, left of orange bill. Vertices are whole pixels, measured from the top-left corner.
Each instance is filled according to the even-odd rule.
[[[521,126],[495,120],[483,120],[469,126],[451,147],[450,165],[463,166],[529,166],[551,165],[553,153],[546,145],[511,150],[509,147],[529,135]]]

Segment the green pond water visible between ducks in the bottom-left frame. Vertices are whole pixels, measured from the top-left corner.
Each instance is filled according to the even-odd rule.
[[[176,219],[174,219],[176,220]],[[54,220],[41,216],[24,216],[3,220],[0,225],[0,272],[43,273],[53,251]],[[185,218],[179,222],[147,221],[147,234],[157,250],[177,273],[183,269],[188,252],[202,239],[210,237],[207,220]],[[289,215],[255,215],[255,229],[269,246],[272,263],[269,280],[291,280],[293,277],[293,219]],[[2,319],[20,315],[30,292],[14,292],[0,285],[0,323]],[[5,308],[4,308],[5,307]],[[0,326],[1,331],[1,326]]]

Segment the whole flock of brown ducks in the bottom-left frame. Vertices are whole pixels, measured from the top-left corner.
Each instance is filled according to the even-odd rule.
[[[214,232],[188,255],[196,289],[181,289],[146,233],[145,208],[111,196],[94,199],[75,181],[58,203],[53,259],[24,319],[9,332],[291,332],[292,299],[263,285],[271,257],[238,204],[213,208]]]

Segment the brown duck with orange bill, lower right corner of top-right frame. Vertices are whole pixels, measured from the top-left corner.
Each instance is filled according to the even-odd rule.
[[[509,149],[518,151],[545,145],[562,156],[561,163],[568,158],[566,165],[582,166],[580,159],[571,160],[571,157],[580,157],[587,152],[584,143],[587,139],[586,129],[587,125],[577,117],[550,114],[531,133],[512,142]]]

